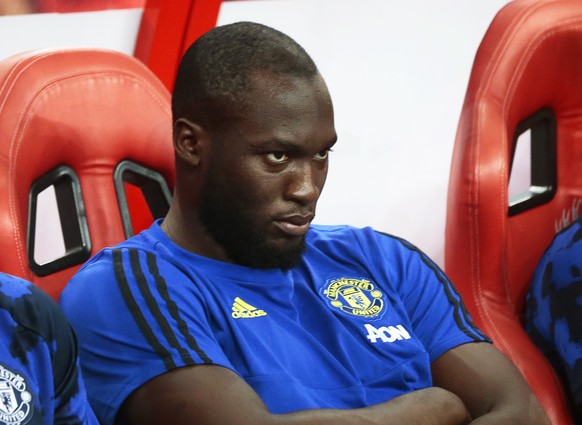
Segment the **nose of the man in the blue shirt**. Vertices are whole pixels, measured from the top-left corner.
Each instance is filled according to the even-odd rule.
[[[309,205],[317,202],[327,176],[327,164],[305,161],[290,171],[285,198]]]

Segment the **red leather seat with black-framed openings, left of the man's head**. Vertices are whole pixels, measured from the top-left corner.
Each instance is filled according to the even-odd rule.
[[[50,49],[0,61],[0,271],[56,299],[89,256],[165,215],[171,137],[170,94],[135,58]]]

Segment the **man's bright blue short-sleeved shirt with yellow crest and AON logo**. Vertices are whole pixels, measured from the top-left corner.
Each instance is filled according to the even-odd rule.
[[[356,408],[430,386],[432,361],[487,340],[401,239],[312,226],[298,267],[261,270],[183,250],[159,223],[97,254],[61,297],[103,424],[177,367],[229,368],[273,413]]]

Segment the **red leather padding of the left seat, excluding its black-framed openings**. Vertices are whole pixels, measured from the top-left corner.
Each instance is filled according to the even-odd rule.
[[[98,49],[47,49],[0,61],[0,270],[56,296],[78,267],[41,278],[29,264],[31,186],[59,167],[78,180],[73,194],[90,254],[123,240],[113,175],[124,160],[173,186],[170,94],[142,63]]]

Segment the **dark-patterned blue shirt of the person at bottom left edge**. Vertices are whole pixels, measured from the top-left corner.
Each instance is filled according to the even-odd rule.
[[[0,424],[96,425],[78,360],[57,303],[0,273]]]

